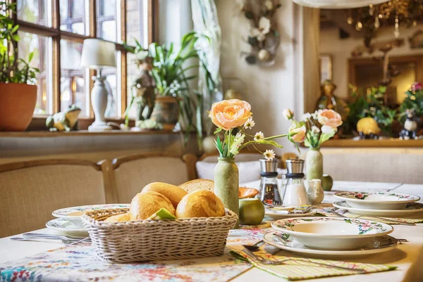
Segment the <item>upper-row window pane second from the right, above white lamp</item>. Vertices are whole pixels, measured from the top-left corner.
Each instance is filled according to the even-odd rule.
[[[97,37],[118,41],[116,13],[120,13],[116,0],[97,0]]]

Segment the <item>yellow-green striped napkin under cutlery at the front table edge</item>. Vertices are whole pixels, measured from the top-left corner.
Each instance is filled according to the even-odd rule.
[[[313,264],[312,262],[332,264],[333,266],[337,267],[349,267],[351,269],[364,269],[366,273],[396,269],[396,267],[384,264],[362,264],[357,262],[340,262],[326,259],[308,259],[303,257],[284,257],[281,255],[271,255],[269,252],[266,252],[260,248],[259,251],[255,252],[255,255],[273,261],[286,261],[286,264],[268,265],[262,264],[257,259],[250,257],[245,252],[243,252],[242,245],[230,245],[228,247],[231,248],[231,254],[235,257],[243,257],[258,269],[262,269],[278,277],[286,278],[290,281],[362,274],[359,271],[322,267],[320,265]]]

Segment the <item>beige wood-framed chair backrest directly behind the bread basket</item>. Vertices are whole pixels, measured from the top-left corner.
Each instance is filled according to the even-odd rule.
[[[116,203],[130,203],[151,182],[179,185],[196,179],[196,160],[197,157],[192,154],[181,158],[166,153],[145,153],[114,159]]]

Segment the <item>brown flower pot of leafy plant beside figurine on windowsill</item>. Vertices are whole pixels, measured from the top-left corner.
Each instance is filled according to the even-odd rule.
[[[172,96],[157,96],[152,119],[163,124],[163,129],[173,129],[178,122],[179,105]]]

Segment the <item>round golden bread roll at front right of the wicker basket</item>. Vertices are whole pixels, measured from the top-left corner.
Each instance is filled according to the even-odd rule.
[[[222,201],[207,190],[199,190],[189,193],[180,200],[176,208],[176,217],[223,217],[225,207]]]

